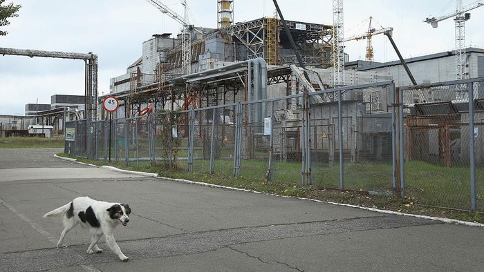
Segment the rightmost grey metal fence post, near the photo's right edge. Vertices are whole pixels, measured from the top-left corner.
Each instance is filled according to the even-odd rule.
[[[469,90],[469,156],[470,156],[470,175],[471,175],[471,210],[477,210],[476,203],[476,161],[475,161],[475,135],[474,135],[474,84],[467,83]]]

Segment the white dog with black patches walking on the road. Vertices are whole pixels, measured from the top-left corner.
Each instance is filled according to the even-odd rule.
[[[68,231],[80,224],[89,229],[89,233],[91,233],[91,244],[87,248],[88,254],[102,253],[102,249],[97,246],[97,242],[104,234],[106,244],[111,251],[118,255],[120,260],[127,262],[129,258],[121,252],[118,243],[114,240],[113,231],[119,224],[126,226],[130,214],[131,208],[127,204],[97,201],[89,197],[77,197],[68,204],[46,213],[44,217],[62,215],[64,231],[62,231],[59,242],[57,242],[57,247],[63,246],[64,237]]]

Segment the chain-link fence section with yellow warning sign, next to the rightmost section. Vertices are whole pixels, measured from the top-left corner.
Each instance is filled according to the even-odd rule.
[[[392,104],[389,83],[319,92],[310,105],[313,184],[389,194],[393,179]]]

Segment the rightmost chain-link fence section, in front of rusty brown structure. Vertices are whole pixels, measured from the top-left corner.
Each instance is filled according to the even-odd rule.
[[[400,89],[404,195],[484,211],[483,80]]]

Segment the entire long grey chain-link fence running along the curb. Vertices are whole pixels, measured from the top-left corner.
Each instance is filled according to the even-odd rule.
[[[483,81],[398,90],[382,82],[67,122],[75,139],[66,153],[484,211]]]

